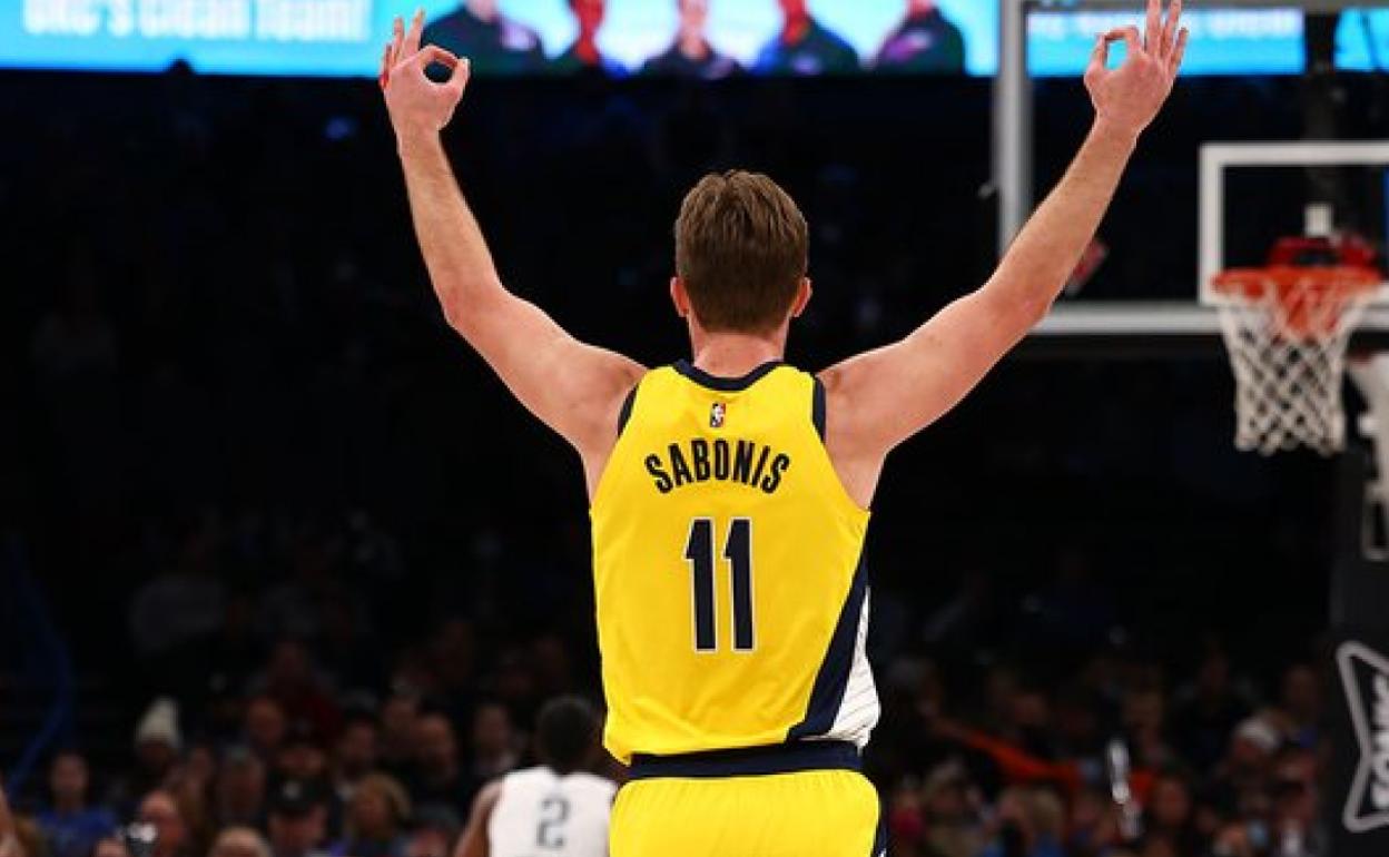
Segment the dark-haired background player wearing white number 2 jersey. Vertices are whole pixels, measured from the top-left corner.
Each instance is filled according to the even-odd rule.
[[[536,718],[540,765],[478,793],[456,857],[606,857],[617,786],[585,772],[597,757],[599,724],[582,699],[546,703]]]

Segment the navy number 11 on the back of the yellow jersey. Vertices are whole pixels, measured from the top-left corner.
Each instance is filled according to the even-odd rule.
[[[685,544],[685,558],[694,576],[694,650],[717,651],[718,631],[714,617],[714,521],[694,518],[690,522],[690,538]],[[733,597],[733,651],[753,650],[753,522],[749,518],[733,518],[724,542],[724,558],[728,561]]]

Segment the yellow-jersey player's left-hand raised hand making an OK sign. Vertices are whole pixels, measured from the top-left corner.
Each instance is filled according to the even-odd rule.
[[[442,131],[468,86],[468,61],[436,44],[419,47],[424,28],[424,10],[415,13],[408,31],[396,18],[394,32],[381,57],[381,89],[397,139]],[[425,76],[425,69],[433,63],[449,68],[449,79],[443,83]]]

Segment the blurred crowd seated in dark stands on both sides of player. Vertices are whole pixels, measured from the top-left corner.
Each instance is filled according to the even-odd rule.
[[[408,582],[394,539],[360,515],[282,543],[204,518],[171,561],[129,599],[157,679],[128,751],[99,765],[81,735],[56,744],[13,796],[7,857],[449,857],[478,792],[533,764],[539,707],[601,699],[582,618],[460,611],[383,635],[372,575],[381,592]],[[286,572],[236,585],[247,561]],[[1315,660],[1263,681],[1214,638],[1181,672],[1122,642],[1057,657],[1050,638],[1024,656],[997,629],[1067,610],[1057,593],[1025,600],[967,578],[893,650],[875,643],[883,721],[865,765],[890,854],[1326,854]],[[622,779],[611,760],[597,772]]]

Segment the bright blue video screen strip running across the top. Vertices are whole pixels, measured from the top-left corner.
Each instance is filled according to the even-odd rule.
[[[7,0],[0,67],[372,76],[394,15],[426,11],[428,38],[481,75],[599,72],[739,75],[992,75],[999,8],[985,0]],[[1031,17],[1031,68],[1079,74],[1095,33],[1133,13]],[[1296,8],[1186,17],[1185,74],[1297,74]],[[1343,15],[1343,68],[1383,67],[1389,11]]]

